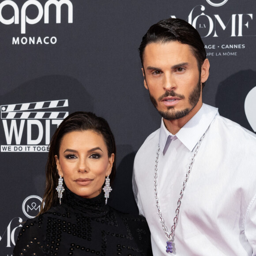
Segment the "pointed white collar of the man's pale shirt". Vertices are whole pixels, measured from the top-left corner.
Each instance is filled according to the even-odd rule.
[[[179,139],[189,151],[193,151],[197,142],[203,136],[203,133],[206,132],[216,114],[218,114],[217,108],[203,103],[199,111],[180,129],[179,132],[177,132],[177,139]],[[166,151],[169,147],[167,141],[169,136],[173,136],[173,134],[166,129],[162,119],[159,134],[159,147],[162,152],[164,149]]]

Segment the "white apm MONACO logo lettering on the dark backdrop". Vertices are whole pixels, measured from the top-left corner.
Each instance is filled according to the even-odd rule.
[[[15,1],[12,0],[4,0],[0,3],[0,23],[3,23],[4,25],[11,25],[11,24],[17,24],[20,26],[20,33],[26,34],[27,24],[34,25],[41,21],[41,19],[44,20],[45,24],[49,23],[49,9],[55,8],[56,9],[56,23],[61,23],[61,11],[62,6],[65,5],[67,8],[64,8],[64,10],[68,9],[68,23],[73,23],[73,5],[70,0],[48,0],[45,2],[45,5],[42,6],[42,4],[38,0],[27,0],[21,10],[19,10],[18,5],[15,3]],[[35,13],[38,13],[36,17],[34,17],[34,11],[33,11],[33,18],[31,18],[28,15],[28,10],[34,7],[37,9]],[[5,8],[11,8],[11,18],[3,15]],[[31,12],[30,12],[31,13]],[[51,17],[51,20],[53,18]],[[12,38],[12,44],[13,45],[49,45],[49,44],[56,44],[57,38],[52,36],[44,36],[44,37],[13,37]]]

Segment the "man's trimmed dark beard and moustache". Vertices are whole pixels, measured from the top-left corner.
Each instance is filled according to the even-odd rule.
[[[201,94],[201,79],[199,77],[199,81],[195,87],[195,89],[189,94],[188,97],[188,101],[189,104],[191,105],[191,108],[186,108],[186,109],[182,109],[182,110],[174,110],[174,106],[169,106],[167,107],[167,111],[161,111],[157,109],[157,101],[156,99],[150,94],[149,92],[149,97],[151,99],[151,102],[153,103],[153,105],[155,106],[155,108],[158,110],[159,114],[166,120],[176,120],[176,119],[180,119],[182,117],[185,117],[188,115],[188,113],[196,106],[197,102],[200,99],[200,94]],[[158,98],[158,101],[161,102],[163,98],[165,97],[169,97],[169,96],[173,96],[173,97],[178,97],[181,99],[184,99],[184,95],[181,94],[177,94],[175,93],[173,90],[171,91],[166,91],[165,94],[163,94],[162,96],[160,96]],[[173,109],[173,112],[169,112],[169,109]]]

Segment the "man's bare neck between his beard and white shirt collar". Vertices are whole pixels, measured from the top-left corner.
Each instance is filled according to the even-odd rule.
[[[167,130],[175,135],[199,111],[203,103],[197,104],[186,116],[175,120],[164,120]]]

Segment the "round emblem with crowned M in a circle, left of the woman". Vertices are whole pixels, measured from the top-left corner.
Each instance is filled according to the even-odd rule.
[[[28,218],[34,218],[41,210],[42,199],[40,196],[28,196],[22,204],[22,211]]]

